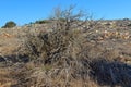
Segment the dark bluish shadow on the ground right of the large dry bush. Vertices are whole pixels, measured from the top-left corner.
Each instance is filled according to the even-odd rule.
[[[92,76],[102,86],[131,87],[131,65],[106,60],[94,60]]]

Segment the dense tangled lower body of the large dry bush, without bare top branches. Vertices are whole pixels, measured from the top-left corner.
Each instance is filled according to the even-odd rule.
[[[31,34],[24,41],[24,54],[28,55],[36,66],[40,64],[40,69],[31,77],[43,80],[49,76],[49,82],[41,83],[45,85],[56,78],[63,85],[68,85],[73,78],[85,79],[90,71],[88,59],[80,55],[84,41],[81,30],[58,29],[36,36]],[[40,74],[45,76],[41,77]]]

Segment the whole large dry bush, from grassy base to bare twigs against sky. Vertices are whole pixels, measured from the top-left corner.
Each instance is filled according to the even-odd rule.
[[[38,69],[34,67],[28,84],[63,87],[69,86],[73,79],[81,82],[90,79],[90,59],[81,54],[81,50],[86,47],[86,39],[82,30],[72,27],[73,24],[79,27],[85,21],[79,23],[79,18],[83,15],[81,12],[72,15],[70,14],[72,10],[73,7],[70,7],[63,11],[64,21],[61,21],[61,16],[57,17],[57,22],[55,21],[57,27],[52,32],[38,35],[29,33],[25,39],[24,53],[34,61],[35,66],[40,64]]]

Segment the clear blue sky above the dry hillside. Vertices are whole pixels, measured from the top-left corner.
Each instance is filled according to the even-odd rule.
[[[0,26],[8,21],[23,25],[47,18],[57,5],[86,10],[95,18],[131,18],[131,0],[0,0]]]

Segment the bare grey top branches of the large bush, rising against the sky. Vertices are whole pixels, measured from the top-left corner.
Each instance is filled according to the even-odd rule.
[[[71,29],[82,27],[92,15],[88,15],[83,10],[75,10],[75,5],[70,5],[62,10],[60,7],[55,8],[52,20],[56,21],[57,29]]]

